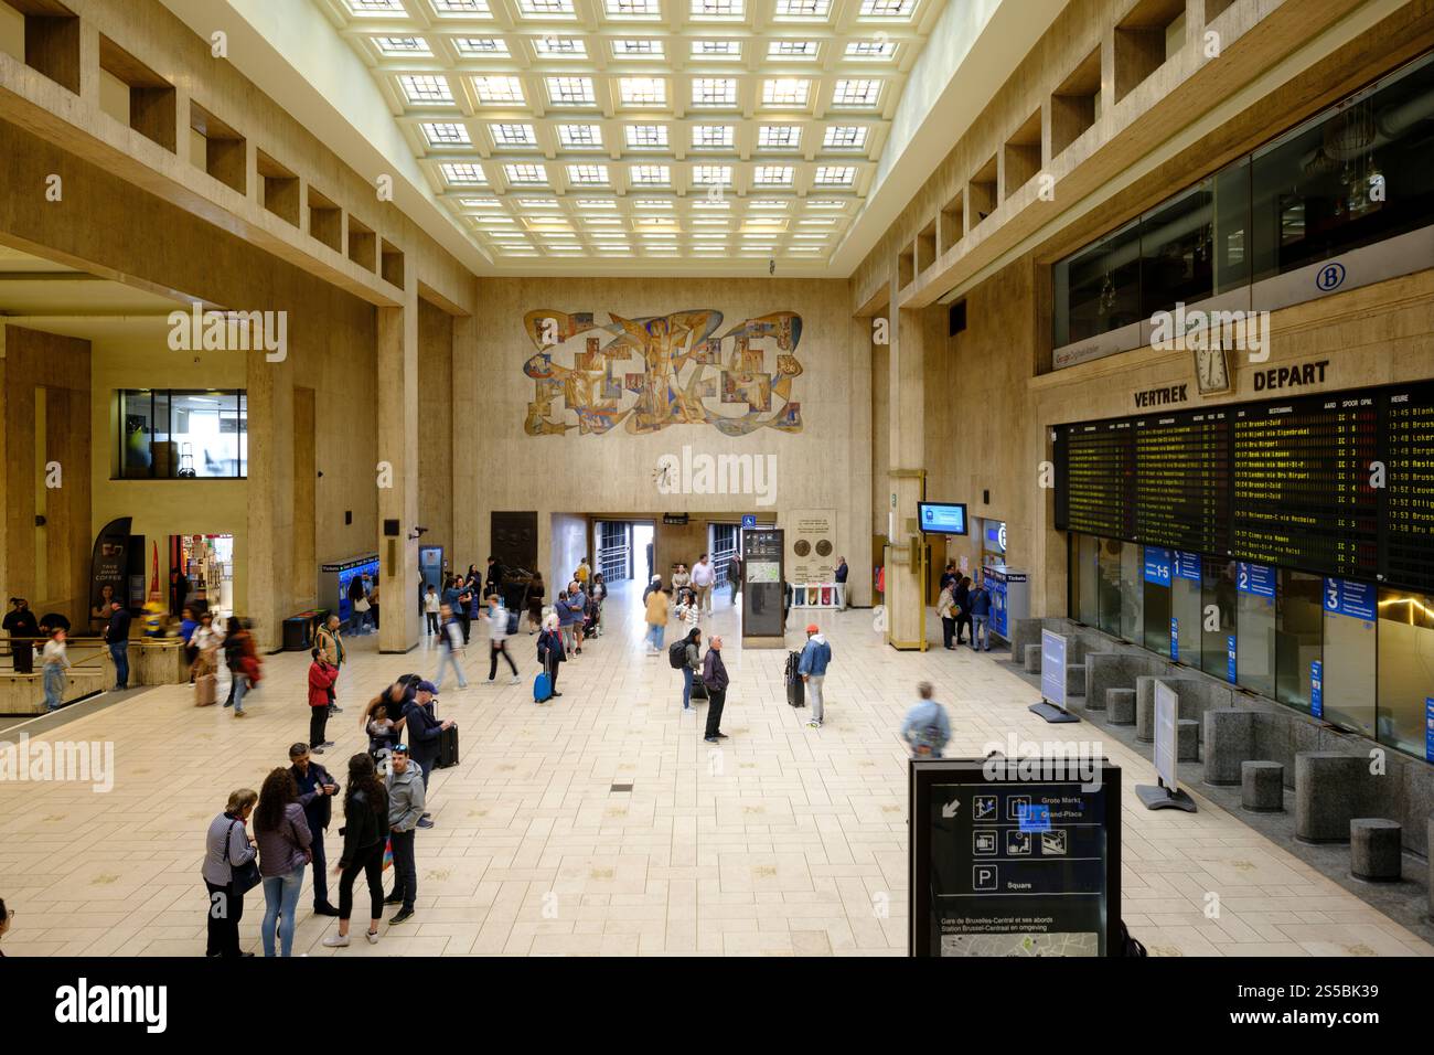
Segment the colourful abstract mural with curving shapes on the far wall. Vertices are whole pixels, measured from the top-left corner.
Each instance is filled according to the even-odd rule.
[[[523,316],[538,349],[523,365],[533,379],[528,435],[602,433],[618,425],[628,432],[711,425],[728,436],[802,431],[802,403],[792,398],[802,375],[794,311],[747,319],[720,334],[723,314],[711,309],[647,319],[609,311],[608,319],[598,324],[591,311],[554,310]]]

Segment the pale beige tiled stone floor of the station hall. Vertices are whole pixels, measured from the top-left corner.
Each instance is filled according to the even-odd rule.
[[[731,634],[723,722],[731,739],[713,749],[698,718],[681,712],[681,675],[642,655],[637,599],[614,591],[607,622],[605,636],[564,667],[562,699],[543,708],[529,690],[531,637],[515,643],[521,686],[502,675],[496,688],[480,685],[488,650],[476,643],[475,688],[450,683],[440,702],[459,722],[462,764],[430,785],[437,827],[419,833],[416,917],[384,924],[376,946],[330,950],[320,940],[333,922],[308,914],[305,890],[295,953],[899,956],[906,755],[896,729],[916,682],[934,680],[949,708],[948,755],[984,754],[1011,732],[1055,735],[1027,712],[1030,686],[989,656],[939,644],[896,653],[880,643],[870,611],[817,617],[835,662],[827,723],[807,729],[809,712],[784,702],[784,653],[744,653],[721,604],[707,629]],[[793,626],[803,623],[793,614]],[[340,775],[366,744],[361,702],[400,673],[435,667],[427,646],[379,656],[374,642],[350,642],[346,712],[330,722],[338,745],[324,756]],[[112,741],[115,788],[0,784],[0,897],[17,911],[6,953],[202,955],[204,831],[232,788],[257,788],[287,762],[288,744],[307,738],[307,662],[303,653],[268,657],[242,721],[196,711],[186,686],[169,686],[43,733]],[[1088,725],[1068,728],[1093,735]],[[1154,782],[1154,772],[1120,744],[1107,751],[1124,779],[1124,917],[1152,955],[1431,953],[1197,792],[1197,814],[1133,808],[1131,785]],[[336,811],[330,845],[340,824]],[[1205,913],[1212,891],[1215,919]],[[366,904],[361,880],[356,894]],[[252,891],[241,924],[247,949],[260,947],[261,914],[262,894]]]

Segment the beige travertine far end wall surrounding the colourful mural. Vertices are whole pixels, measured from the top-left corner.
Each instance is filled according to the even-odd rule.
[[[721,514],[734,518],[743,511],[771,512],[777,522],[793,508],[837,508],[837,547],[853,567],[868,561],[870,465],[869,411],[858,413],[870,399],[865,372],[853,372],[853,327],[847,309],[847,287],[842,281],[815,280],[482,280],[476,367],[472,370],[476,413],[455,422],[459,451],[482,449],[466,482],[455,492],[455,504],[478,501],[495,510],[536,508],[539,567],[554,566],[552,512],[602,512],[612,517],[642,512]],[[533,380],[523,363],[536,350],[523,329],[523,316],[538,309],[592,311],[595,322],[608,313],[627,319],[665,316],[684,309],[714,309],[723,313],[717,334],[736,324],[773,311],[802,316],[802,340],[796,357],[802,375],[793,386],[793,400],[802,403],[803,428],[797,433],[763,428],[746,436],[726,436],[708,425],[671,425],[655,433],[631,433],[618,426],[605,435],[531,436],[523,431]],[[605,342],[604,342],[605,343]],[[727,343],[730,347],[730,342]],[[571,365],[564,353],[562,365]],[[635,363],[635,360],[634,360]],[[763,369],[774,370],[769,349]],[[628,366],[637,370],[635,365]],[[455,369],[455,376],[462,376]],[[685,376],[685,375],[684,375]],[[465,393],[459,393],[462,398]],[[631,396],[627,396],[628,402]],[[713,406],[718,403],[713,400]],[[728,405],[730,406],[730,405]],[[780,406],[773,399],[773,406]],[[558,405],[555,405],[555,411]],[[728,411],[730,412],[730,411]],[[853,418],[853,415],[856,415]],[[575,423],[571,413],[564,421]],[[858,428],[853,429],[853,421]],[[664,455],[776,456],[774,505],[760,508],[754,495],[658,492],[655,472]],[[860,481],[859,485],[853,485]],[[703,528],[698,528],[703,531]],[[478,525],[475,553],[486,553],[488,524]],[[697,543],[706,548],[706,535]],[[658,538],[658,548],[663,540]],[[688,547],[690,548],[690,547]],[[691,554],[658,554],[660,567]],[[571,571],[565,568],[564,574]],[[860,599],[869,603],[869,597]]]

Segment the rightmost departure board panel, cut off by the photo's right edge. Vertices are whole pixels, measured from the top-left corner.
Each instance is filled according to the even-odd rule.
[[[1434,593],[1434,383],[1387,389],[1384,580]]]

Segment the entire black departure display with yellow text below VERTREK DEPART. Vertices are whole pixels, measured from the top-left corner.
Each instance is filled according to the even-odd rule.
[[[1434,593],[1434,382],[1054,431],[1055,527]]]

